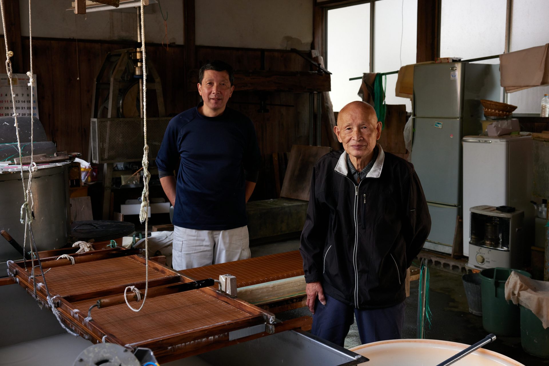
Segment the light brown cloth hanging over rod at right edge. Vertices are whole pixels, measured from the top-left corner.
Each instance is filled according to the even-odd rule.
[[[506,93],[549,84],[549,43],[500,55],[500,80]]]

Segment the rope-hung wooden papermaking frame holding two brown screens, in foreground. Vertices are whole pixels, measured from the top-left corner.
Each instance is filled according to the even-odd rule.
[[[61,319],[76,333],[92,342],[106,341],[133,348],[151,348],[160,362],[167,362],[270,333],[298,328],[306,323],[306,319],[295,319],[295,324],[290,324],[292,321],[271,324],[274,319],[272,313],[212,288],[148,297],[140,312],[131,311],[125,303],[93,308],[93,320],[88,322],[85,318],[91,305],[98,300],[123,299],[126,286],[136,285],[144,294],[145,260],[135,255],[136,250],[105,246],[96,249],[98,250],[81,254],[74,254],[76,249],[39,254],[44,271],[51,268],[46,273],[46,281]],[[71,256],[76,260],[75,265],[71,265],[64,258],[55,261],[55,258],[65,252],[72,253]],[[253,272],[262,273],[264,278],[299,275],[294,271],[294,267],[301,266],[299,253],[276,256],[276,261],[271,263],[271,269],[265,268],[259,262]],[[293,264],[288,266],[288,263]],[[28,264],[29,262],[27,269],[30,270]],[[32,295],[32,279],[30,273],[25,271],[23,262],[9,262],[8,267],[12,278]],[[284,268],[285,271],[281,271]],[[209,277],[201,273],[195,275],[198,276],[197,279]],[[37,283],[41,281],[38,278],[40,277],[37,277]],[[158,293],[163,286],[193,280],[149,261],[149,291],[156,290]],[[140,303],[130,295],[127,296],[128,299],[132,298],[130,303],[139,307]],[[45,286],[37,286],[37,299],[47,303]],[[264,325],[264,330],[260,329],[259,333],[236,339],[231,335],[232,331],[260,324]]]

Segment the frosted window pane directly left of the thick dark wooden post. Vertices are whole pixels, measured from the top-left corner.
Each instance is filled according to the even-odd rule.
[[[402,40],[402,42],[401,42]],[[390,72],[416,63],[417,0],[380,0],[374,7],[374,71]],[[402,46],[401,46],[402,43]],[[395,96],[397,75],[387,75],[386,104],[406,104]]]

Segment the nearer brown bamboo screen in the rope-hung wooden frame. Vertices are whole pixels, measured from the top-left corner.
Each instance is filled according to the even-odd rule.
[[[144,295],[144,290],[141,290]],[[95,302],[96,300],[79,301],[72,305],[85,313]],[[141,302],[131,301],[130,304],[137,308]],[[151,297],[138,313],[128,309],[125,303],[92,310],[94,322],[108,333],[116,335],[124,344],[231,323],[249,316],[249,313],[216,300],[200,290]]]

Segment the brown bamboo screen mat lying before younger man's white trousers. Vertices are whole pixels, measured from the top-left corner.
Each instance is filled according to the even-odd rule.
[[[303,261],[299,250],[249,258],[238,262],[183,269],[178,272],[195,279],[217,279],[221,274],[231,274],[237,278],[237,287],[304,275]]]

